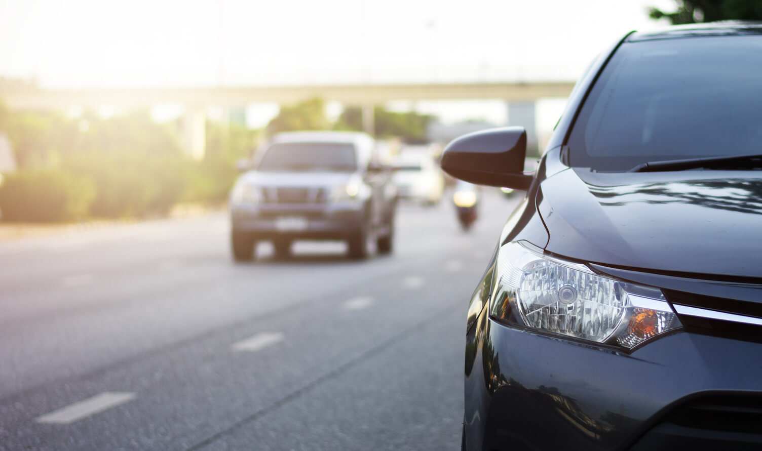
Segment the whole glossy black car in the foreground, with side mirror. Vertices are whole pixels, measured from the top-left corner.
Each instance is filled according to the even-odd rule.
[[[627,34],[534,174],[526,142],[442,158],[527,190],[469,305],[463,448],[762,449],[762,24]]]

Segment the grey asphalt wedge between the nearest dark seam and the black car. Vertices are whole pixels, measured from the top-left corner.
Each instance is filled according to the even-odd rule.
[[[200,449],[459,449],[463,299]]]

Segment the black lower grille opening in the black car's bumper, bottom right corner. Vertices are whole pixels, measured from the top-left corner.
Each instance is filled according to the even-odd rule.
[[[759,449],[760,424],[759,395],[703,396],[669,412],[632,449]]]

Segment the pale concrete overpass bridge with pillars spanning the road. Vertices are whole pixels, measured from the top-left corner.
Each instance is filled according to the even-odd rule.
[[[0,98],[17,110],[66,110],[69,107],[146,108],[158,104],[185,106],[184,146],[203,155],[207,107],[245,107],[260,102],[290,104],[319,97],[363,107],[363,123],[373,131],[373,105],[389,101],[501,100],[511,123],[536,134],[534,104],[541,98],[568,97],[574,82],[458,82],[357,85],[281,85],[198,88],[41,89],[0,85]],[[530,138],[531,140],[531,138]]]

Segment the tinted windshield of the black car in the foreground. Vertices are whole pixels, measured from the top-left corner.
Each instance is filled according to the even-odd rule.
[[[571,166],[762,153],[762,37],[625,43],[568,140]]]

